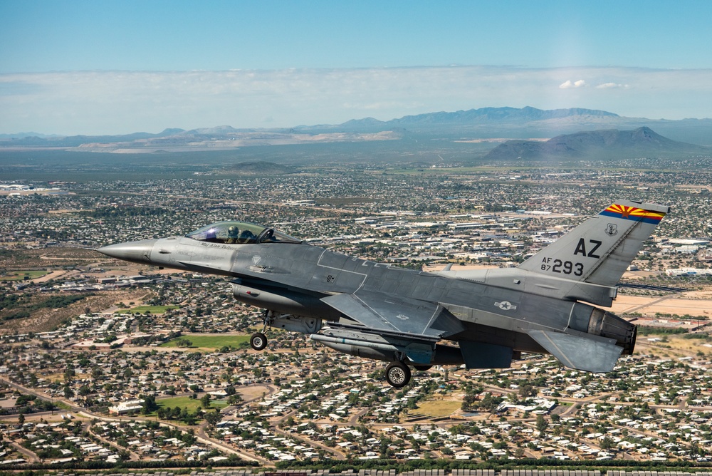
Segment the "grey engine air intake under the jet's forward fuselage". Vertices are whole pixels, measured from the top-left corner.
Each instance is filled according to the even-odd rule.
[[[340,313],[325,304],[317,296],[290,291],[278,287],[232,285],[232,294],[238,301],[279,314],[311,317],[315,319],[339,319]]]

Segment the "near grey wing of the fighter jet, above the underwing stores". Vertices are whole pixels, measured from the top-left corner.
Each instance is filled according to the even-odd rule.
[[[334,294],[321,300],[374,331],[438,339],[464,331],[459,319],[434,302],[372,291]]]

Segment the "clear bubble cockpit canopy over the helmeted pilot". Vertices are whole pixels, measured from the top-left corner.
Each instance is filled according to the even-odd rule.
[[[300,239],[276,232],[261,224],[217,222],[185,235],[199,242],[226,244],[301,243]]]

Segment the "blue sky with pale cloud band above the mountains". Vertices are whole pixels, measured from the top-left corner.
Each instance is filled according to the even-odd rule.
[[[712,1],[0,0],[0,133],[712,117]]]

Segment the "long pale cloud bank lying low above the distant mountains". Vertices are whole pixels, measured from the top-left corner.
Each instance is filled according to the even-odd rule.
[[[552,85],[562,77],[587,80],[560,84],[572,89],[560,94]],[[0,133],[278,128],[526,105],[704,118],[712,110],[712,70],[444,66],[0,74]]]

